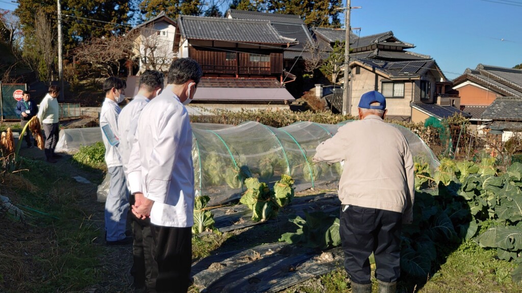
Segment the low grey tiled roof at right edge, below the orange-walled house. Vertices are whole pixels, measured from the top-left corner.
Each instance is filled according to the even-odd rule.
[[[522,121],[522,97],[497,97],[482,113],[482,118]]]

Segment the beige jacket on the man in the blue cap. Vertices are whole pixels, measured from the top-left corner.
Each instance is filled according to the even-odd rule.
[[[344,161],[339,181],[342,204],[399,212],[403,223],[412,222],[413,160],[398,129],[369,115],[340,127],[316,151],[314,161]]]

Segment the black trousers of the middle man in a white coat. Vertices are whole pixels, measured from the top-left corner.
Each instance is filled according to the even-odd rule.
[[[134,205],[134,195],[129,197],[129,203]],[[156,277],[158,276],[158,264],[154,260],[155,246],[152,237],[150,218],[140,219],[131,214],[131,227],[134,235],[133,259],[131,273],[134,276],[136,288],[144,287],[147,293],[156,292]]]

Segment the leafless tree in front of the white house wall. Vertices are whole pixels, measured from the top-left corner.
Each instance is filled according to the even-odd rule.
[[[167,31],[148,25],[127,35],[133,39],[133,55],[140,69],[167,71],[175,57],[173,38]]]

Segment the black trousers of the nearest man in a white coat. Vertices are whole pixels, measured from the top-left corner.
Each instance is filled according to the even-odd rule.
[[[191,284],[192,227],[151,227],[158,263],[156,290],[185,293]]]

